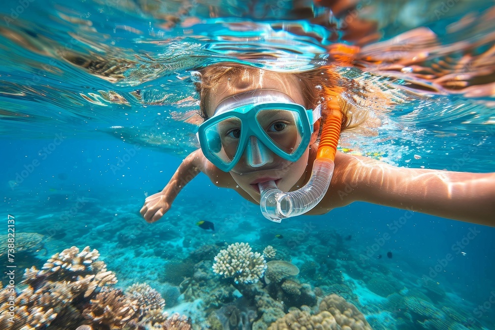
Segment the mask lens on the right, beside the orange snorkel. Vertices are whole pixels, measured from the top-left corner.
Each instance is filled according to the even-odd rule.
[[[297,111],[281,109],[260,110],[256,120],[265,136],[280,150],[292,155],[302,140],[301,118]]]

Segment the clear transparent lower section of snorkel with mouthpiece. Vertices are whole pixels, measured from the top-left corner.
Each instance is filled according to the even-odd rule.
[[[284,218],[308,212],[325,196],[333,173],[332,160],[316,159],[313,163],[311,179],[301,189],[284,192],[277,188],[274,181],[259,183],[261,213],[268,220],[281,222]]]

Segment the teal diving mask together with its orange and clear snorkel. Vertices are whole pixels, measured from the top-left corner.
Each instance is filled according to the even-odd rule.
[[[308,110],[276,90],[254,90],[227,97],[218,104],[214,115],[199,126],[201,150],[225,172],[236,172],[243,155],[245,164],[239,168],[282,169],[287,162],[297,161],[306,150],[313,124],[320,118],[320,108],[318,105]],[[340,115],[340,111],[336,113]],[[327,117],[327,121],[328,129],[324,127],[322,132],[325,139],[318,146],[311,178],[304,187],[284,192],[273,180],[258,183],[261,213],[268,220],[281,222],[304,214],[325,195],[334,171],[342,117]],[[275,159],[273,154],[279,157]]]

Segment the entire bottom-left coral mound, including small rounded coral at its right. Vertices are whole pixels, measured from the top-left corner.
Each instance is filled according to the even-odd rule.
[[[131,286],[131,294],[114,288],[115,275],[98,258],[95,249],[73,246],[54,254],[42,270],[26,269],[22,291],[0,290],[0,329],[190,329],[189,319],[162,314],[163,299],[146,284]],[[17,303],[12,314],[10,297]]]

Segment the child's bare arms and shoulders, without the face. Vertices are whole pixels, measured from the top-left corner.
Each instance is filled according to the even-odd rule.
[[[311,148],[310,162],[314,150]],[[366,201],[495,227],[495,173],[398,168],[342,152],[337,152],[335,165],[330,189],[307,214],[325,214],[354,201]],[[310,171],[308,166],[306,172]],[[199,172],[206,174],[216,186],[234,189],[247,200],[259,204],[259,194],[253,198],[237,187],[230,173],[216,168],[198,149],[183,161],[161,192],[146,198],[141,209],[146,221],[159,220],[170,209],[180,190]],[[303,177],[309,179],[307,175]]]

